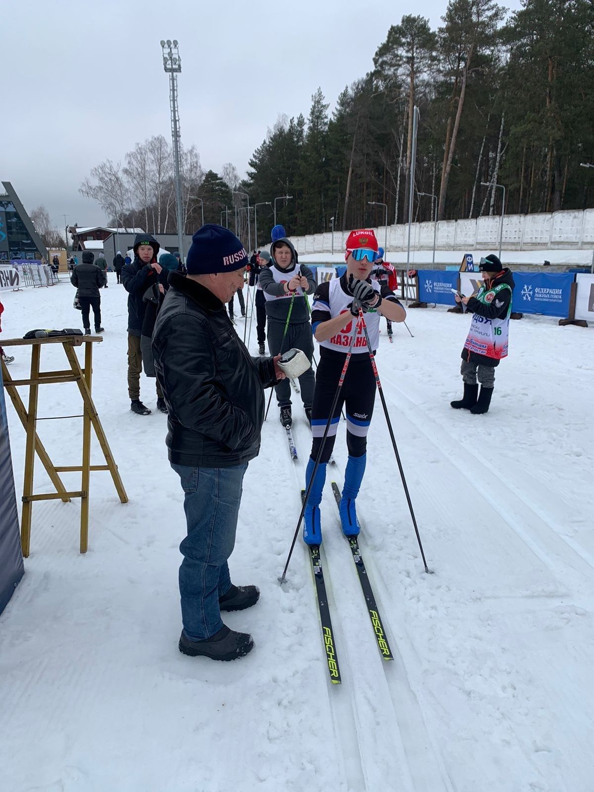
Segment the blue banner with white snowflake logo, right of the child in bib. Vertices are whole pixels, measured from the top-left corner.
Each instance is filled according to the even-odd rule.
[[[569,296],[575,275],[571,272],[513,272],[512,310],[520,314],[569,316]]]

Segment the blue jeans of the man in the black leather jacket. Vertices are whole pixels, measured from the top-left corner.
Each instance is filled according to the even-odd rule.
[[[188,535],[180,545],[181,621],[191,641],[223,626],[219,597],[231,588],[227,558],[233,552],[247,463],[234,467],[174,465],[185,492]]]

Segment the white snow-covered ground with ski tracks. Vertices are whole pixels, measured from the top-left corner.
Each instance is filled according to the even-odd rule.
[[[73,292],[2,292],[2,335],[77,325]],[[33,507],[25,577],[0,617],[2,790],[591,792],[592,329],[512,322],[484,417],[449,406],[467,317],[410,310],[413,338],[401,326],[393,345],[383,335],[379,374],[434,574],[423,572],[378,399],[361,546],[395,660],[379,657],[328,482],[338,687],[301,543],[287,586],[277,583],[310,442],[295,400],[299,462],[271,409],[230,564],[235,582],[261,588],[256,607],[226,619],[256,648],[229,664],[177,651],[185,520],[166,417],[129,412],[126,294],[111,275],[101,297],[93,394],[130,502],[120,505],[109,474],[92,475],[84,556],[78,502]],[[25,377],[29,353],[12,352],[11,374]],[[63,368],[62,357],[44,348],[42,364]],[[142,395],[154,407],[144,379]],[[40,399],[40,416],[78,412],[74,385],[46,386]],[[9,417],[19,493],[25,437],[10,403]],[[38,430],[56,464],[75,464],[80,419]],[[344,436],[341,425],[339,484]],[[40,465],[36,489],[50,489]]]

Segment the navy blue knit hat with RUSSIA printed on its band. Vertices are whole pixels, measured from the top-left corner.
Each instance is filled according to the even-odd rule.
[[[234,272],[246,267],[248,255],[241,242],[228,228],[207,223],[192,236],[185,266],[188,275]]]

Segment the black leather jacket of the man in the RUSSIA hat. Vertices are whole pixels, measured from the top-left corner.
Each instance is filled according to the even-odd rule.
[[[157,379],[169,409],[169,460],[231,467],[260,451],[264,388],[276,383],[272,358],[252,358],[221,301],[179,272],[153,333]]]

